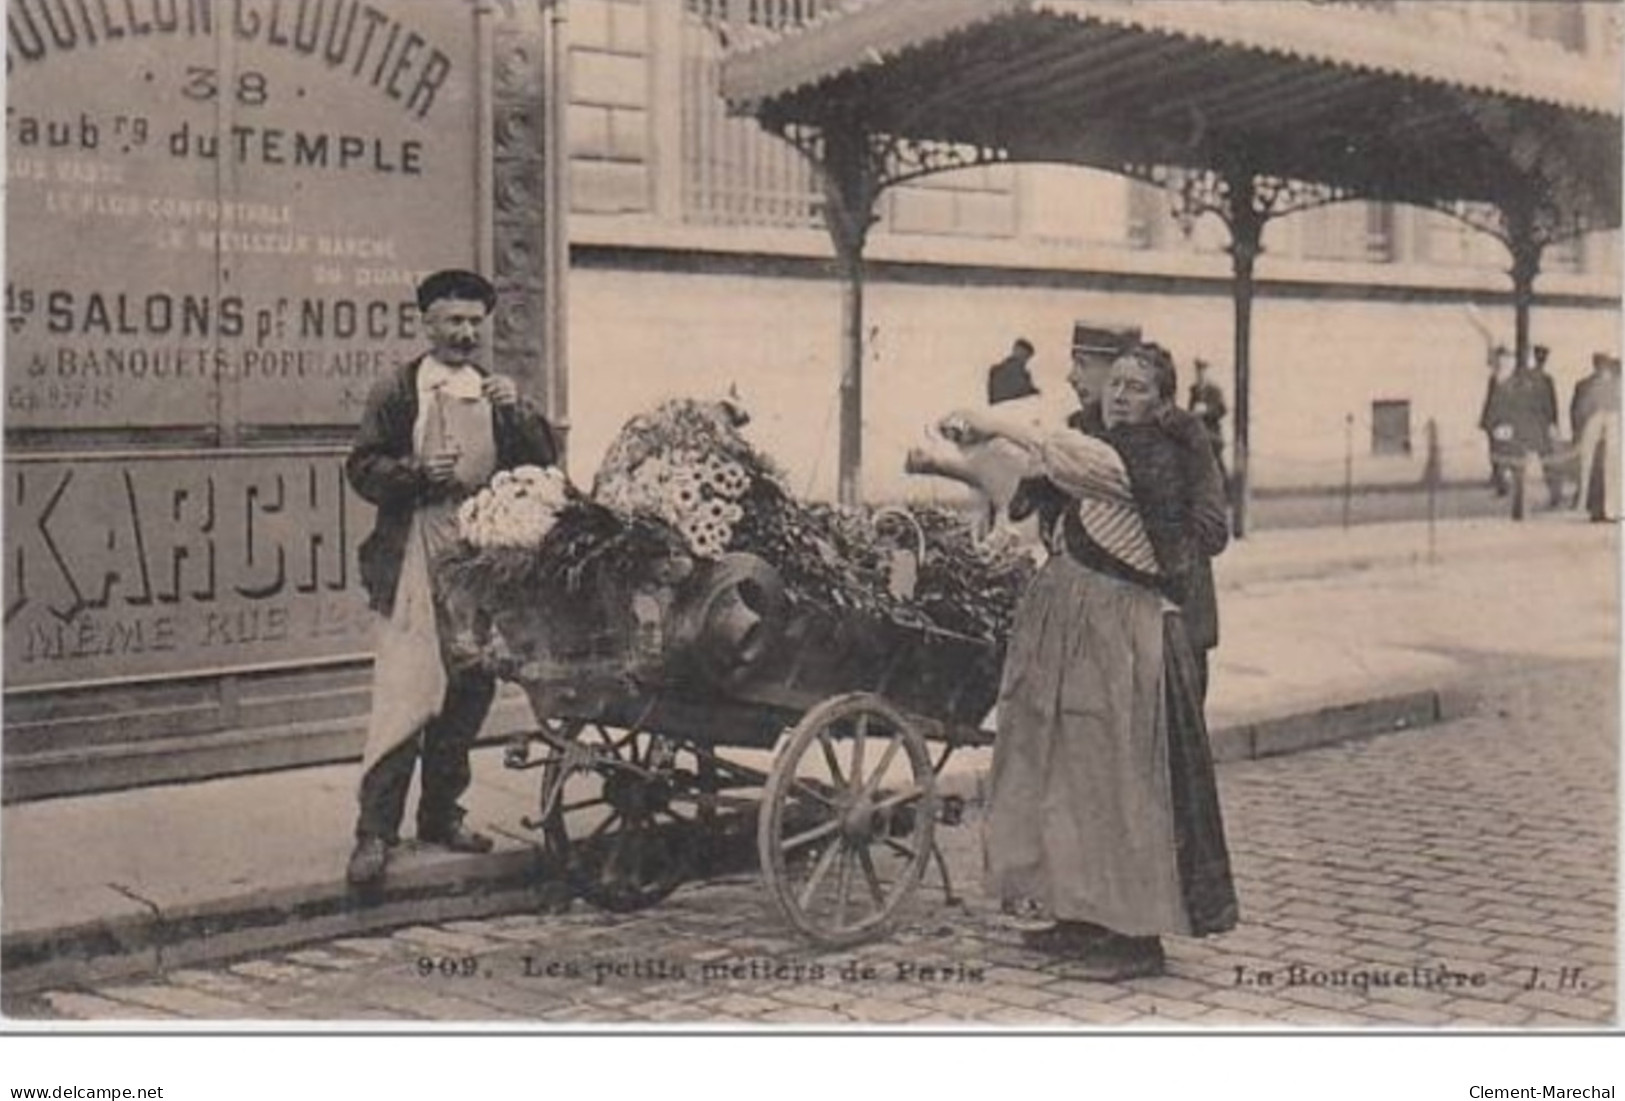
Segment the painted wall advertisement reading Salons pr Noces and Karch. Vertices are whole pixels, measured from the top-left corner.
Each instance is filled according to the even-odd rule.
[[[6,687],[366,653],[341,455],[153,448],[353,425],[418,349],[413,286],[479,240],[473,5],[8,0],[6,32]],[[128,443],[65,461],[75,430]]]

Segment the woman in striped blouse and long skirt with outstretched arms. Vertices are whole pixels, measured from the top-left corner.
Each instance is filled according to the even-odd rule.
[[[1003,437],[1060,490],[1055,554],[1016,612],[998,705],[986,861],[1004,903],[1055,924],[1029,947],[1076,974],[1164,969],[1162,935],[1235,926],[1212,755],[1180,604],[1198,557],[1193,456],[1168,429],[1160,348],[1112,365],[1100,435],[1038,434],[986,412],[944,430]],[[1211,455],[1207,456],[1211,461]]]

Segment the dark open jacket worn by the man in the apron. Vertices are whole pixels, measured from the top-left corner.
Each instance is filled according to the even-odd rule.
[[[401,562],[406,557],[413,510],[463,492],[429,482],[422,464],[413,456],[418,367],[422,361],[424,357],[418,356],[374,383],[367,395],[367,408],[361,414],[361,430],[344,460],[344,476],[349,484],[379,508],[372,534],[361,544],[359,559],[367,602],[382,615],[388,615],[395,607],[395,586],[400,583]],[[478,364],[474,370],[481,375],[489,373]],[[552,466],[559,461],[552,425],[525,399],[512,408],[492,406],[491,430],[497,445],[497,469]]]

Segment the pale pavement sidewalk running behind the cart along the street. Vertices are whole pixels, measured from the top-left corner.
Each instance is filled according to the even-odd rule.
[[[1612,656],[1617,572],[1617,529],[1563,515],[1248,538],[1219,560],[1216,755],[1461,715],[1474,653]],[[956,755],[946,786],[975,796],[988,757]],[[497,853],[408,848],[366,900],[343,883],[354,783],[356,766],[338,765],[5,807],[8,994],[535,905],[535,848],[518,823],[535,812],[536,773],[476,752],[470,817],[499,836]]]

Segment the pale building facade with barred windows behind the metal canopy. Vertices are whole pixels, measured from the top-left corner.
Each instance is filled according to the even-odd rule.
[[[834,494],[838,291],[811,169],[717,96],[722,54],[821,10],[814,0],[572,0],[572,461],[652,393],[726,390],[762,438]],[[1618,57],[1610,3],[1362,3],[1419,34],[1472,36],[1563,65]],[[882,195],[869,245],[864,377],[868,497],[934,492],[902,474],[921,425],[977,401],[1012,339],[1037,349],[1064,411],[1074,320],[1141,325],[1185,370],[1207,359],[1227,391],[1225,231],[1181,226],[1168,196],[1061,166],[986,166]],[[1254,318],[1253,482],[1422,476],[1438,427],[1448,479],[1485,474],[1477,417],[1485,341],[1511,343],[1506,250],[1446,213],[1341,203],[1272,222]],[[1618,344],[1618,235],[1547,250],[1534,339],[1558,388]],[[639,385],[626,386],[629,373]],[[1566,424],[1563,425],[1566,432]]]

